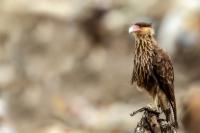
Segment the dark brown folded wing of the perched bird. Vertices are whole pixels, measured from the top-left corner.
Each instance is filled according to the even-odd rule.
[[[153,75],[159,84],[159,88],[168,98],[173,109],[175,122],[177,123],[176,100],[174,96],[174,70],[169,56],[162,49],[159,49],[154,58]]]

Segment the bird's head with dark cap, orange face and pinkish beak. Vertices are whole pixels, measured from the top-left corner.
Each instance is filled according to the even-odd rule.
[[[154,29],[150,23],[145,22],[138,22],[130,26],[129,28],[129,34],[134,35],[135,37],[140,36],[153,36],[154,35]]]

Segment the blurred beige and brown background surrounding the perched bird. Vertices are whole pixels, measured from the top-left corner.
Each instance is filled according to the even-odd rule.
[[[0,0],[0,133],[130,133],[133,21],[173,59],[179,132],[200,132],[199,0]]]

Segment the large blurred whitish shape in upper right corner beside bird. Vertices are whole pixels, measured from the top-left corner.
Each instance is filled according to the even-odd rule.
[[[197,39],[194,37],[191,40],[190,33],[195,33],[199,29],[199,22],[196,21],[200,13],[199,9],[200,2],[198,0],[193,0],[192,2],[189,0],[177,0],[164,17],[158,39],[161,46],[171,55],[175,54],[179,39],[188,40],[186,42],[183,41],[188,43],[187,46],[192,45],[192,42],[195,41],[194,39]],[[185,33],[188,33],[188,35],[181,37]]]

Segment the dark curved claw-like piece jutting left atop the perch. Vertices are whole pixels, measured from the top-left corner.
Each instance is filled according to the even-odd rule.
[[[159,115],[160,114],[160,112],[157,111],[157,109],[155,107],[153,108],[151,105],[147,105],[145,107],[142,107],[142,108],[132,112],[130,114],[130,116],[134,116],[134,115],[136,115],[137,113],[140,113],[140,112],[148,112],[148,113],[153,113],[155,115]]]

